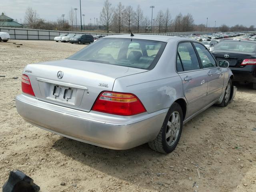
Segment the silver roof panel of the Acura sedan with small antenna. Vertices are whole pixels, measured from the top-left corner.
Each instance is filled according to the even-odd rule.
[[[182,38],[182,37],[174,37],[174,36],[164,36],[164,35],[141,35],[135,34],[134,36],[130,36],[130,34],[126,35],[110,35],[105,36],[104,38],[127,38],[127,39],[142,39],[142,40],[154,40],[154,41],[162,41],[168,42],[170,40],[192,40],[189,38]]]

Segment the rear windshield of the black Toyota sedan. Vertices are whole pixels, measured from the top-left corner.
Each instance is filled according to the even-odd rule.
[[[240,41],[222,41],[214,46],[214,50],[255,52],[256,43]]]

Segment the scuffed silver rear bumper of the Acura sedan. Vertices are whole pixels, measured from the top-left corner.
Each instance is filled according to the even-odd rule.
[[[16,97],[16,108],[26,121],[44,130],[96,146],[125,150],[156,138],[168,109],[135,116],[83,112],[36,100]]]

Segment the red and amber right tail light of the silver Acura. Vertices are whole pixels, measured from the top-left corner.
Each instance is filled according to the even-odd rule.
[[[92,110],[122,116],[146,112],[142,102],[134,94],[108,91],[100,93]]]

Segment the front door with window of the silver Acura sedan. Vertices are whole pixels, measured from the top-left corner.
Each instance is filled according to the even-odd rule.
[[[217,66],[213,56],[202,44],[193,43],[198,52],[202,68],[208,74],[207,102],[210,103],[220,97],[224,84],[224,71]]]

